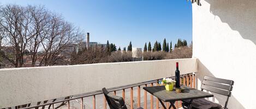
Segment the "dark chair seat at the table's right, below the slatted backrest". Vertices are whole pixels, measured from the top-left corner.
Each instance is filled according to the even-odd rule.
[[[187,107],[189,100],[183,100],[182,106]],[[194,109],[219,109],[222,108],[221,105],[216,104],[215,102],[211,102],[206,99],[194,99],[192,102],[192,108]]]

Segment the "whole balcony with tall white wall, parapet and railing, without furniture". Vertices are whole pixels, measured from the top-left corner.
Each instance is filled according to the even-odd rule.
[[[145,96],[142,87],[174,76],[176,61],[182,84],[199,89],[204,75],[234,80],[228,107],[255,108],[255,1],[201,0],[200,4],[192,4],[197,59],[0,69],[0,108],[56,108],[62,102],[63,108],[108,108],[103,87],[124,96],[130,108],[162,108],[150,94]],[[222,103],[225,98],[215,94],[212,100]]]

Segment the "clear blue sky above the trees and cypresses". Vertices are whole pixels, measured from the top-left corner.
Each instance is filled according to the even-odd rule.
[[[143,48],[164,38],[192,41],[192,5],[186,0],[2,0],[1,4],[44,5],[90,33],[90,40]],[[173,43],[174,44],[174,43]],[[172,45],[173,46],[173,45]]]

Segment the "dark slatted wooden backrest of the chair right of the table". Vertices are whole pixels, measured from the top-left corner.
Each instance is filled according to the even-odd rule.
[[[231,96],[231,91],[233,89],[234,81],[214,78],[210,76],[204,76],[203,83],[201,85],[201,90],[218,93],[227,96],[227,101],[225,102],[225,108],[227,108],[229,97]]]

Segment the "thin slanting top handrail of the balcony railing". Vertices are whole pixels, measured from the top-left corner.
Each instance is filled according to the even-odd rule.
[[[195,74],[195,73],[182,74],[181,77],[182,76],[186,76],[186,75],[193,75],[193,74]],[[167,77],[167,78],[174,78],[174,77],[175,76],[170,76],[170,77]],[[136,84],[130,84],[130,85],[124,85],[124,86],[119,86],[119,87],[108,88],[108,91],[109,92],[114,92],[114,91],[120,91],[122,89],[127,89],[127,88],[131,88],[131,87],[142,86],[142,85],[147,85],[147,84],[153,84],[153,83],[158,82],[159,80],[162,80],[162,79],[156,79],[156,80],[150,80],[150,81],[145,81],[145,82],[139,82],[139,83],[136,83]],[[94,91],[94,92],[88,92],[88,93],[84,93],[84,94],[78,94],[79,95],[78,97],[73,97],[73,98],[64,99],[64,100],[48,102],[48,103],[45,103],[45,104],[34,105],[34,106],[29,106],[29,107],[22,107],[20,109],[29,109],[29,108],[46,106],[46,105],[52,105],[52,104],[57,104],[57,103],[60,103],[60,102],[65,102],[65,101],[70,101],[70,100],[75,100],[75,99],[91,97],[93,95],[99,95],[99,94],[103,94],[102,90]],[[69,96],[69,97],[71,97],[71,96]],[[73,95],[73,96],[76,96],[76,95]]]

